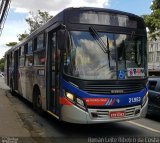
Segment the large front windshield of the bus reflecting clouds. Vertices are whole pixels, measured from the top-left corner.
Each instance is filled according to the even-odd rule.
[[[65,72],[86,80],[144,78],[144,40],[140,36],[98,32],[104,52],[88,31],[70,31]],[[108,45],[107,45],[108,44]],[[109,55],[109,56],[108,56]]]

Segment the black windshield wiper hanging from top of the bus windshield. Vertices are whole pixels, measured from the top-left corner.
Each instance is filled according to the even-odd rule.
[[[89,32],[92,35],[92,37],[96,40],[96,42],[98,43],[102,51],[104,53],[108,53],[108,61],[109,61],[109,67],[110,67],[110,50],[109,50],[108,37],[107,37],[107,45],[106,45],[93,26],[89,28]]]

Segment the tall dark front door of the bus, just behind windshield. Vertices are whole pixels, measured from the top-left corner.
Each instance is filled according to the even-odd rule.
[[[56,61],[56,33],[48,33],[48,57],[47,57],[47,105],[49,112],[58,116],[58,66]]]

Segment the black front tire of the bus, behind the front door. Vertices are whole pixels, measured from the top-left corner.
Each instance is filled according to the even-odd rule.
[[[38,88],[33,90],[33,109],[40,115],[44,112],[42,109],[42,96]]]

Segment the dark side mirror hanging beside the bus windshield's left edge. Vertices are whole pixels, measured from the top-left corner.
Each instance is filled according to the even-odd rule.
[[[57,32],[57,42],[58,42],[58,48],[60,50],[65,50],[67,46],[67,30],[66,29],[60,29]]]

